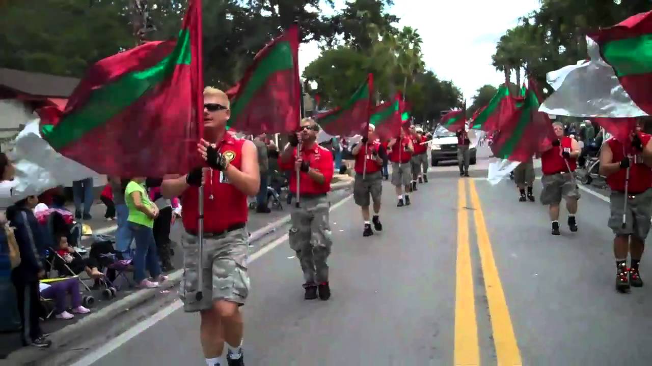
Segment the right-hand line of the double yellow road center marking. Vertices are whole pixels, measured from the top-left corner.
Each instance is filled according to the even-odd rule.
[[[500,282],[500,276],[496,268],[489,233],[484,222],[480,198],[477,190],[475,190],[475,182],[471,180],[469,184],[471,187],[471,204],[475,208],[473,216],[477,231],[482,275],[484,276],[484,290],[489,303],[489,316],[494,333],[497,363],[498,365],[509,366],[522,365],[512,320],[507,308],[507,300],[505,300],[505,292],[503,292],[503,285]]]

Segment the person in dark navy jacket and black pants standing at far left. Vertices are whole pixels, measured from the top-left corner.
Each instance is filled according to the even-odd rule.
[[[42,262],[45,243],[32,211],[37,204],[37,197],[29,196],[7,208],[7,219],[16,228],[14,236],[20,251],[20,264],[12,270],[11,279],[16,287],[23,346],[49,347],[52,341],[44,337],[39,320],[43,309],[38,294],[38,279],[45,277]]]

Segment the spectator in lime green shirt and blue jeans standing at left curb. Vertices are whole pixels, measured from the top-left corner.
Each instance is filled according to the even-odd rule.
[[[134,280],[139,287],[158,287],[159,281],[165,281],[161,275],[156,242],[154,241],[154,219],[158,216],[158,208],[149,199],[145,190],[145,177],[132,178],[126,185],[125,203],[129,209],[126,219],[129,229],[136,240],[136,255],[134,255]],[[149,270],[153,281],[145,275]]]

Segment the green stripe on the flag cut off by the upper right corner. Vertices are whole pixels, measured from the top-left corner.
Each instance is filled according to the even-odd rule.
[[[652,35],[607,42],[601,51],[618,77],[652,72]]]

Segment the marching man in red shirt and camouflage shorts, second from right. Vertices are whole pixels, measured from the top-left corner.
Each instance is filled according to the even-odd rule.
[[[555,122],[552,128],[557,135],[557,140],[552,142],[552,147],[541,155],[541,170],[543,176],[541,183],[541,204],[550,206],[550,220],[552,221],[552,234],[559,235],[559,204],[561,198],[566,200],[569,211],[568,224],[572,232],[578,231],[575,214],[577,213],[577,200],[580,198],[575,181],[576,159],[580,156],[580,147],[571,137],[564,136],[563,124]]]

